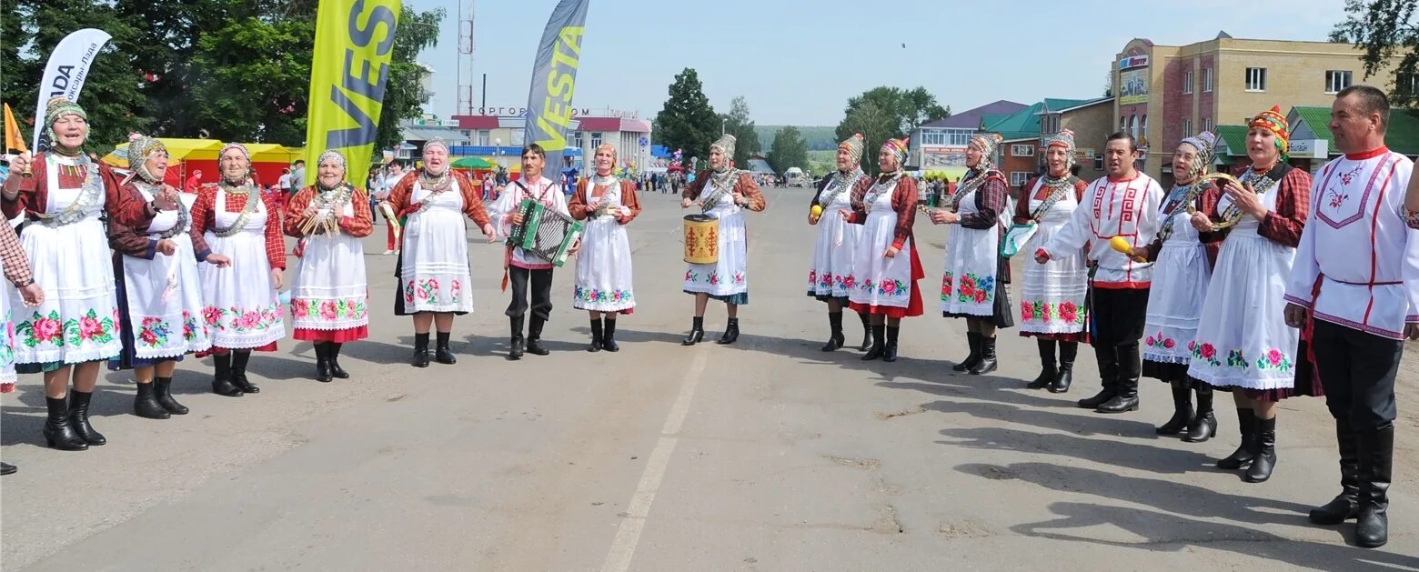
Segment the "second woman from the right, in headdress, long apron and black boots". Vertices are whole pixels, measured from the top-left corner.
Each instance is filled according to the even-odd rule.
[[[1158,237],[1135,247],[1134,257],[1154,263],[1152,288],[1144,326],[1142,375],[1172,386],[1172,417],[1158,426],[1158,434],[1186,431],[1182,440],[1202,443],[1218,433],[1212,414],[1212,386],[1188,378],[1192,341],[1198,335],[1202,304],[1212,278],[1215,246],[1203,244],[1189,211],[1212,214],[1220,192],[1210,180],[1199,180],[1212,166],[1216,136],[1202,132],[1178,143],[1172,153],[1176,185],[1158,211]],[[1192,393],[1198,409],[1192,409]]]

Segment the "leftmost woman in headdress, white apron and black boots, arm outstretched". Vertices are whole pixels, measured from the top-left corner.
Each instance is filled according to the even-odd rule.
[[[6,219],[24,214],[20,244],[30,258],[44,304],[16,315],[14,362],[20,373],[44,373],[50,416],[44,440],[60,450],[85,450],[106,443],[88,420],[99,362],[116,356],[118,295],[108,236],[99,216],[119,224],[146,226],[159,210],[175,209],[176,192],[143,203],[118,192],[112,170],[92,160],[82,146],[88,116],[65,98],[53,98],[44,115],[53,148],[33,160],[21,153],[0,193]],[[31,172],[33,169],[33,172]],[[26,175],[28,172],[28,175]],[[9,307],[21,299],[11,295]],[[70,380],[74,397],[68,399]]]

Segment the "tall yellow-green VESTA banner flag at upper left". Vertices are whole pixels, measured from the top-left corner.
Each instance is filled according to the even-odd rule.
[[[305,126],[308,182],[315,180],[321,153],[333,149],[345,153],[345,179],[365,185],[389,85],[399,9],[400,0],[321,0]]]

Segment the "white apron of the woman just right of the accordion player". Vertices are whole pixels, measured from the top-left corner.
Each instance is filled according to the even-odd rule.
[[[597,204],[622,206],[620,183],[606,187]],[[587,183],[587,200],[595,192]],[[597,312],[619,312],[636,307],[631,288],[630,240],[616,216],[587,219],[582,227],[582,250],[576,254],[576,285],[572,307]]]

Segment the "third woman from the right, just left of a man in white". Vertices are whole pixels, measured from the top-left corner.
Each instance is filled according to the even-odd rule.
[[[1088,189],[1088,182],[1070,175],[1074,166],[1074,132],[1064,129],[1044,143],[1042,177],[1027,183],[1026,199],[1016,203],[1015,223],[1034,223],[1034,236],[1019,248],[1033,253],[1049,244]],[[1020,335],[1033,336],[1040,349],[1040,375],[1026,385],[1029,389],[1069,392],[1074,382],[1074,358],[1078,343],[1088,341],[1088,265],[1078,251],[1046,264],[1025,264],[1020,285]],[[1056,346],[1059,363],[1056,365]]]

